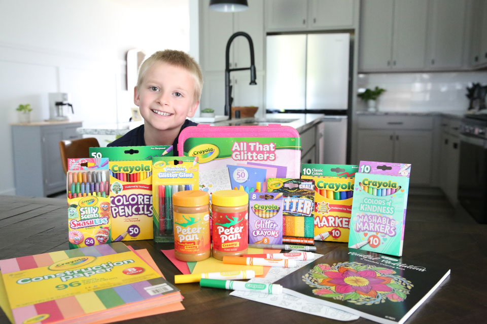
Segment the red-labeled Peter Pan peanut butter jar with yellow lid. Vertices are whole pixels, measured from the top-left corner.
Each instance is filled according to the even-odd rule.
[[[249,195],[242,190],[212,194],[212,254],[215,259],[240,256],[249,245]]]

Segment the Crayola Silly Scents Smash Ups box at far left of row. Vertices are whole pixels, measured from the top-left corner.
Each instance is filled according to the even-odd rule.
[[[69,249],[111,242],[108,158],[68,158]]]

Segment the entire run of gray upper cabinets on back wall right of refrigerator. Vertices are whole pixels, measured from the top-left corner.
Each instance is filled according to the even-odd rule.
[[[363,0],[359,71],[467,67],[467,0]]]

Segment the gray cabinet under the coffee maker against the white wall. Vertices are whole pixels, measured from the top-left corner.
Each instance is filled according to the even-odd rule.
[[[59,141],[81,138],[81,122],[12,124],[17,195],[42,197],[65,189]]]

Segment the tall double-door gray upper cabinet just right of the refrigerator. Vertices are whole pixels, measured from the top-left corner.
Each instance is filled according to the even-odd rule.
[[[360,11],[360,71],[425,67],[428,2],[367,0]]]

